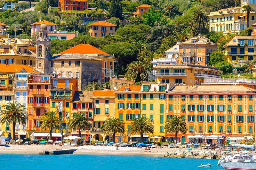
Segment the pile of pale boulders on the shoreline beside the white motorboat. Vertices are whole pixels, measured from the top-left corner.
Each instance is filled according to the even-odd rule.
[[[233,153],[233,152],[232,152]],[[236,152],[238,153],[238,152]],[[236,154],[233,153],[233,154]],[[230,154],[230,151],[222,151],[221,156]],[[196,159],[219,159],[220,154],[219,151],[172,151],[167,152],[167,154],[164,155],[164,157],[169,158],[196,158]]]

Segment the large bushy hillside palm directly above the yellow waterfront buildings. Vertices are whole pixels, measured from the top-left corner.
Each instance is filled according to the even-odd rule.
[[[135,82],[148,81],[150,72],[150,66],[148,66],[144,61],[136,60],[127,65],[125,78]]]

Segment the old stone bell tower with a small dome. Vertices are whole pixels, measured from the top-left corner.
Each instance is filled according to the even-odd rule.
[[[36,39],[36,69],[49,73],[49,58],[51,57],[51,40],[47,35],[47,27],[40,25],[39,37]]]

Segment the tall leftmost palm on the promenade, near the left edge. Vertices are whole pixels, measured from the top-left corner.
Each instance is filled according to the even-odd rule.
[[[0,111],[1,124],[12,123],[12,138],[15,138],[15,124],[19,122],[19,124],[26,125],[27,122],[27,109],[24,105],[17,103],[16,101],[9,102],[6,105],[2,106],[2,110]]]

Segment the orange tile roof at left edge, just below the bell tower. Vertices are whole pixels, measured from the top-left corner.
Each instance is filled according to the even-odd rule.
[[[27,73],[39,73],[33,67],[21,64],[0,64],[0,73],[20,73],[24,69]]]

